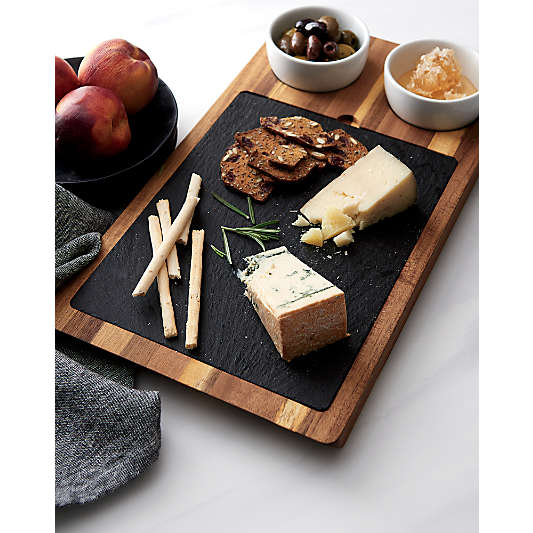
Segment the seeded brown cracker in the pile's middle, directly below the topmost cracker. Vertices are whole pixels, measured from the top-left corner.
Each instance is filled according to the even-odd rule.
[[[237,132],[235,140],[248,154],[256,153],[265,160],[282,167],[294,168],[307,157],[305,148],[264,128]]]

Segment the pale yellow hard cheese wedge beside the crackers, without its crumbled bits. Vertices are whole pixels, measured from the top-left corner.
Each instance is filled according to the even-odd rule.
[[[399,159],[376,146],[365,157],[326,185],[300,211],[314,224],[330,207],[352,217],[364,229],[404,211],[416,201],[412,171]]]

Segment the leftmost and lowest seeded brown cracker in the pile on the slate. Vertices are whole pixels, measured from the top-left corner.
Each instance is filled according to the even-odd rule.
[[[224,185],[264,202],[274,190],[272,178],[248,166],[248,154],[237,144],[230,146],[220,161]]]

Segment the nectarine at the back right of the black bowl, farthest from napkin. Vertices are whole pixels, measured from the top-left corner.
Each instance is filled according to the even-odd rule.
[[[124,39],[100,43],[81,62],[82,85],[97,85],[115,92],[129,114],[146,107],[157,91],[157,70],[140,48]]]

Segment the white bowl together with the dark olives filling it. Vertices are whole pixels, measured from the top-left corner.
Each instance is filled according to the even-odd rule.
[[[279,15],[269,27],[270,67],[296,89],[327,92],[354,82],[368,58],[370,35],[354,15],[330,7],[299,7]]]

